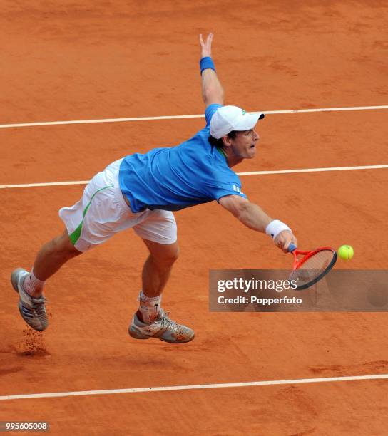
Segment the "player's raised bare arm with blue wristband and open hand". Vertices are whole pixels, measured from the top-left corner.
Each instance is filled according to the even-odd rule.
[[[200,35],[201,58],[200,58],[200,72],[202,78],[202,98],[208,107],[213,103],[220,105],[224,104],[224,90],[220,81],[218,80],[217,73],[215,73],[215,66],[212,59],[212,41],[213,33],[209,33],[206,41],[203,41]]]

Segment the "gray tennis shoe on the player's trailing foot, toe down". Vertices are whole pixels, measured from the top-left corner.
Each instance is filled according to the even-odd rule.
[[[19,294],[19,312],[21,317],[34,330],[43,331],[48,327],[44,296],[34,298],[23,289],[23,282],[29,272],[23,268],[16,268],[11,274],[11,284]]]

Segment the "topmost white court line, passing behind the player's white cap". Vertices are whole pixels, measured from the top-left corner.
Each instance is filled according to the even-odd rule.
[[[278,114],[278,113],[312,113],[312,112],[338,112],[341,110],[382,110],[388,109],[385,106],[353,106],[349,108],[317,108],[317,109],[290,109],[290,110],[265,110],[260,113]],[[259,112],[251,112],[259,113]],[[95,124],[95,123],[124,123],[128,121],[150,121],[150,120],[183,120],[186,118],[205,118],[205,115],[163,115],[160,117],[132,117],[132,118],[103,118],[101,120],[68,120],[68,121],[44,121],[39,123],[14,123],[0,124],[1,129],[36,127],[40,125],[66,125],[66,124]]]

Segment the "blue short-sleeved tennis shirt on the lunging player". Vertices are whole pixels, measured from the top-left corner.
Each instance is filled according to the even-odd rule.
[[[180,145],[124,157],[118,180],[133,213],[145,209],[180,210],[225,195],[246,198],[225,155],[208,141],[210,120],[220,107],[208,106],[206,127]]]

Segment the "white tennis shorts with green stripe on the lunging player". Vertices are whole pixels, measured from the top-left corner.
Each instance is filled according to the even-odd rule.
[[[143,239],[159,244],[177,240],[173,212],[149,210],[133,214],[126,204],[118,182],[122,159],[98,172],[86,185],[82,198],[72,207],[59,209],[73,245],[86,251],[106,242],[113,234],[130,227]]]

